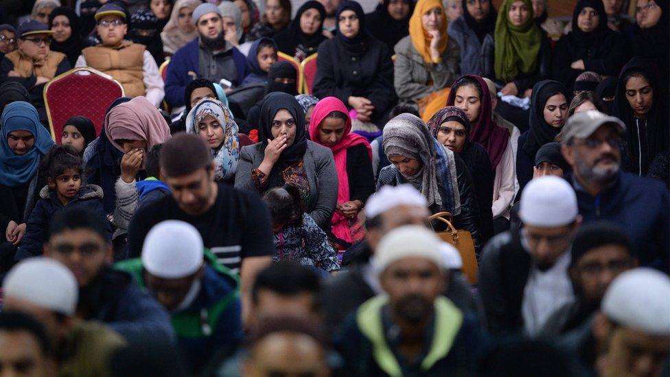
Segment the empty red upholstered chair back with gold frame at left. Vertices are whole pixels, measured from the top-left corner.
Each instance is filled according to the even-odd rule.
[[[95,126],[95,135],[100,135],[105,111],[123,96],[124,87],[117,80],[90,67],[70,69],[56,76],[44,87],[51,138],[60,144],[65,121],[75,115],[89,117]]]

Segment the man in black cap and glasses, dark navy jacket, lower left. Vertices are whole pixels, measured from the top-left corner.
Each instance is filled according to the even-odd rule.
[[[135,286],[130,274],[111,268],[114,251],[107,227],[102,215],[76,207],[66,207],[51,221],[44,255],[64,264],[76,277],[76,317],[105,323],[129,343],[146,341],[147,336],[172,343],[167,312]]]

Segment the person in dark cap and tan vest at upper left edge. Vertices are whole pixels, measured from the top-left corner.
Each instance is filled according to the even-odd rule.
[[[19,40],[16,41],[19,48],[5,54],[0,62],[0,82],[14,81],[22,84],[30,93],[30,100],[43,124],[47,124],[42,94],[44,84],[70,69],[65,54],[49,49],[53,33],[47,25],[38,21],[21,23],[18,30]]]

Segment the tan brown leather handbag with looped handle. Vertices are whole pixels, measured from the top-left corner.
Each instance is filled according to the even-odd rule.
[[[472,234],[466,230],[457,230],[453,225],[454,216],[449,212],[437,212],[437,214],[428,217],[428,220],[441,221],[447,225],[446,231],[437,231],[435,233],[441,240],[452,244],[453,247],[458,249],[463,260],[463,274],[465,274],[470,284],[476,284],[479,266],[477,264],[477,255],[474,251]]]

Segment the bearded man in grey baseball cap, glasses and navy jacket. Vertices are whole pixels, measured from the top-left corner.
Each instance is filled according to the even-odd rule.
[[[641,266],[668,271],[668,192],[660,181],[621,171],[623,122],[585,111],[570,117],[562,132],[562,153],[573,168],[567,179],[577,192],[584,222],[608,220],[621,226]]]

